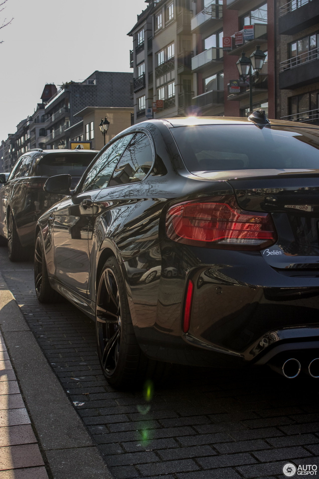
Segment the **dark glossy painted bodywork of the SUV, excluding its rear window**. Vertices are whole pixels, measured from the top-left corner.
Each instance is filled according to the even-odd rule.
[[[65,150],[57,150],[57,153],[63,151]],[[70,151],[67,151],[67,154]],[[86,150],[85,153],[90,152]],[[92,151],[92,160],[96,153],[96,151]],[[7,217],[8,212],[11,211],[19,239],[22,246],[25,247],[34,245],[34,231],[38,218],[65,196],[65,194],[44,192],[44,184],[48,177],[39,176],[39,166],[41,166],[42,158],[47,154],[52,154],[52,151],[29,150],[17,160],[9,180],[0,185],[0,235],[4,238],[8,237]],[[77,152],[72,152],[72,155],[77,154]],[[14,172],[26,157],[30,159],[29,170],[25,172],[25,176],[14,178]],[[73,187],[78,181],[79,178],[72,178]]]

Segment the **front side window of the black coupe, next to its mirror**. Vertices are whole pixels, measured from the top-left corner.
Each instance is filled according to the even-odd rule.
[[[81,191],[92,191],[98,188],[106,188],[114,171],[115,165],[119,161],[124,148],[133,135],[126,135],[112,143],[101,156],[96,160],[90,171],[88,171]]]

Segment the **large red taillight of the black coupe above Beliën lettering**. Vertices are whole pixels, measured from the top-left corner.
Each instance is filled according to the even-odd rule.
[[[269,214],[240,209],[232,195],[218,199],[171,206],[166,215],[168,238],[194,246],[232,250],[263,250],[275,243],[275,227]]]

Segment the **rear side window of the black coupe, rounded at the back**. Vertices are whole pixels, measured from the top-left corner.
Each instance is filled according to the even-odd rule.
[[[142,181],[152,168],[152,164],[151,142],[144,133],[138,133],[124,151],[109,186]]]

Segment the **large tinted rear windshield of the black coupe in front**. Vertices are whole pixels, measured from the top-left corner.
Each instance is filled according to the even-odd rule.
[[[188,171],[319,169],[319,129],[196,125],[170,130]]]

